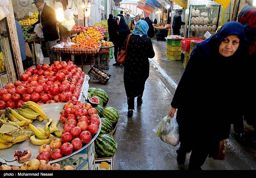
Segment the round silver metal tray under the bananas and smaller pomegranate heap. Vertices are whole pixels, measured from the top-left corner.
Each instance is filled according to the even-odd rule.
[[[60,111],[62,111],[62,108],[65,104],[66,103],[50,103],[50,104],[42,104],[40,106],[43,108],[44,112],[47,114],[47,116],[49,118],[53,118],[53,120],[56,121],[56,120],[60,119]],[[46,124],[46,120],[44,120],[43,122],[40,122],[38,120],[33,121],[33,125],[35,125],[36,127],[44,128],[45,124]],[[63,125],[64,125],[63,123],[59,124],[58,128],[63,129]],[[53,163],[60,162],[64,159],[67,159],[67,158],[79,153],[80,151],[84,150],[87,146],[89,146],[96,139],[96,137],[100,133],[100,129],[101,129],[101,121],[100,121],[100,126],[99,126],[98,132],[96,134],[92,135],[92,139],[89,143],[84,144],[84,146],[80,150],[74,151],[70,155],[67,155],[61,159],[51,160],[51,161],[49,161],[49,163],[53,164]],[[11,166],[21,166],[22,163],[14,161],[14,158],[13,158],[14,152],[16,150],[24,151],[24,150],[29,149],[32,153],[32,156],[30,158],[30,160],[31,160],[31,159],[36,159],[37,155],[39,154],[39,152],[38,152],[39,147],[40,147],[40,145],[34,145],[34,144],[30,143],[30,141],[28,139],[26,141],[16,143],[16,144],[12,145],[10,148],[0,149],[0,162],[7,163]]]

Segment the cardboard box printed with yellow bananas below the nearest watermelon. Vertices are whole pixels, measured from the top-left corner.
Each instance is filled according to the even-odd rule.
[[[95,159],[95,170],[114,170],[114,157],[108,158],[96,158]]]

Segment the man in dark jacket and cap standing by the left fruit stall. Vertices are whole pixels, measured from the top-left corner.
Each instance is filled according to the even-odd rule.
[[[35,27],[36,24],[41,23],[39,27],[43,28],[46,50],[50,57],[50,65],[52,65],[54,61],[57,61],[57,54],[53,50],[50,50],[50,47],[54,46],[57,43],[56,40],[59,39],[56,14],[50,6],[46,5],[44,0],[33,1],[32,4],[36,5],[39,12],[38,21],[33,24],[33,27]]]

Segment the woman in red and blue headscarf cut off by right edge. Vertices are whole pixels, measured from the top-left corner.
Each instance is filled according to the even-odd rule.
[[[244,93],[244,120],[246,120],[248,125],[253,127],[252,144],[256,146],[256,8],[252,6],[245,6],[238,15],[238,22],[244,26],[245,29],[245,39],[244,39],[244,54],[243,69],[244,75],[241,75],[243,83],[243,93]],[[240,118],[240,122],[237,127],[244,128],[243,118]],[[241,133],[235,131],[235,138],[242,136]]]

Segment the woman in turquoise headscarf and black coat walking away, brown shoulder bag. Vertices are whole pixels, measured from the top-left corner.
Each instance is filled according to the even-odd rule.
[[[155,56],[147,32],[147,22],[144,20],[138,21],[128,43],[128,53],[124,64],[124,88],[127,96],[128,117],[132,117],[135,97],[137,97],[137,105],[142,104],[145,82],[149,76],[148,58]],[[124,42],[123,50],[126,43],[127,39]]]

